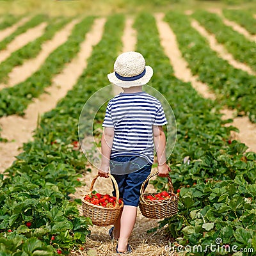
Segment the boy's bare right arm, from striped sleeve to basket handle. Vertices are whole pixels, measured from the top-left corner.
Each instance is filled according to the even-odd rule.
[[[165,145],[166,138],[163,127],[160,125],[153,125],[154,144],[157,155],[157,170],[160,177],[168,177],[170,167],[166,164]]]

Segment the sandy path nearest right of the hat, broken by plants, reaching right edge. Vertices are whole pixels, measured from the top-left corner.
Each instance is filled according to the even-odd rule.
[[[208,99],[214,99],[214,93],[209,93],[207,84],[196,81],[196,77],[193,77],[191,71],[188,68],[188,63],[179,51],[175,34],[173,33],[170,26],[163,21],[164,15],[159,13],[156,15],[157,28],[159,29],[159,35],[161,38],[161,44],[163,45],[166,56],[170,59],[173,66],[175,76],[182,81],[191,82],[192,86],[198,93]],[[229,109],[223,109],[222,111],[224,119],[233,118],[234,111]],[[232,132],[232,138],[245,143],[249,148],[248,151],[256,152],[256,124],[250,122],[248,116],[233,118],[233,123],[228,125],[234,125],[239,129],[237,132]]]

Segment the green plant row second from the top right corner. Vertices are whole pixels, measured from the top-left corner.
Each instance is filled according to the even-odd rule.
[[[230,26],[223,24],[221,17],[215,13],[203,10],[193,13],[193,17],[200,22],[210,33],[214,33],[220,44],[225,45],[236,60],[248,64],[256,70],[256,60],[254,58],[256,43],[248,40],[244,35],[234,31]]]

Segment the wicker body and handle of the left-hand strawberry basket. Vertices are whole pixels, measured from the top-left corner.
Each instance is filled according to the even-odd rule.
[[[90,204],[89,202],[85,201],[84,196],[82,198],[83,215],[85,217],[90,217],[92,220],[92,223],[94,225],[97,225],[100,227],[106,227],[109,225],[113,225],[116,222],[116,220],[118,219],[120,211],[121,211],[122,207],[124,206],[123,202],[121,205],[118,204],[119,190],[118,190],[118,185],[116,183],[115,178],[111,174],[108,174],[108,175],[111,178],[111,180],[113,181],[113,184],[116,189],[116,206],[115,207],[103,207],[100,205],[93,205],[93,204]],[[93,186],[98,177],[99,177],[99,175],[97,175],[92,180],[89,194],[93,191]]]

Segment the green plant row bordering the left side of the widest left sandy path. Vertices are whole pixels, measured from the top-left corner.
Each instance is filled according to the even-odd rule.
[[[51,85],[52,77],[60,73],[64,65],[79,52],[79,45],[83,42],[92,22],[93,17],[81,20],[74,26],[67,41],[49,54],[40,69],[26,81],[0,91],[0,116],[24,115],[24,110],[31,100],[42,94],[44,88]]]

